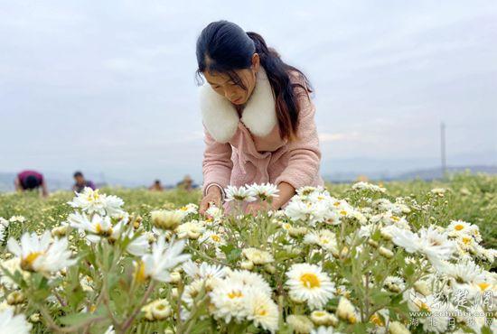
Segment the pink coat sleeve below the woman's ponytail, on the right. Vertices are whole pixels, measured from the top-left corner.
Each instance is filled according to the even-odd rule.
[[[288,165],[277,177],[276,184],[286,182],[297,190],[312,185],[319,174],[321,150],[314,121],[314,103],[308,93],[302,91],[302,88],[294,89],[300,108],[296,131],[298,138],[288,143],[290,152]]]

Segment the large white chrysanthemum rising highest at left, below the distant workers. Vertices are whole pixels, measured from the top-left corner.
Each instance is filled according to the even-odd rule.
[[[111,217],[123,214],[121,207],[124,204],[122,199],[117,196],[109,196],[98,193],[98,190],[92,190],[86,187],[76,197],[68,202],[72,208],[79,208],[88,214],[98,213],[100,216],[108,215]]]

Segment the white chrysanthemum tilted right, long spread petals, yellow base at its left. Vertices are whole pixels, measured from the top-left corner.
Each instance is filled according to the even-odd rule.
[[[168,282],[169,270],[190,258],[183,254],[184,240],[167,245],[164,237],[152,245],[152,254],[143,255],[141,261],[135,262],[136,280],[144,282],[151,278],[155,281]]]

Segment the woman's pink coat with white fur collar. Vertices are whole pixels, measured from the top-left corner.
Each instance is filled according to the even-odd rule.
[[[324,185],[319,175],[321,151],[314,121],[315,107],[302,88],[299,101],[298,139],[281,139],[276,103],[265,70],[260,67],[241,118],[228,99],[206,83],[201,91],[205,151],[202,162],[203,193],[217,185],[286,182],[295,189]],[[292,83],[305,83],[291,74]]]

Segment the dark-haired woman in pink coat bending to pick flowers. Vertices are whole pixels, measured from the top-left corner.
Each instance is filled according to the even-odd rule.
[[[200,212],[218,207],[228,185],[274,183],[272,208],[250,203],[246,212],[280,209],[295,190],[323,185],[312,92],[304,73],[287,65],[256,32],[227,21],[210,23],[197,41],[205,152]],[[201,77],[202,78],[202,77]]]

